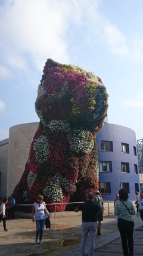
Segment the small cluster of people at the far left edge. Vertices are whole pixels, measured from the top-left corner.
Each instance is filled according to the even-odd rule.
[[[8,231],[6,227],[6,219],[14,219],[15,198],[14,195],[0,197],[0,222],[3,222],[4,231]]]

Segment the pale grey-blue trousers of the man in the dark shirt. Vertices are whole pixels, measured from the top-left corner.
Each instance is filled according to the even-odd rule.
[[[95,222],[82,222],[82,242],[80,246],[80,256],[85,256],[85,246],[86,240],[89,233],[89,254],[88,256],[94,255],[94,240],[96,232],[96,223]]]

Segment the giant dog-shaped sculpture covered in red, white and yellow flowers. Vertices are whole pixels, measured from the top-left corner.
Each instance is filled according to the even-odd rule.
[[[107,116],[108,94],[94,73],[48,59],[35,109],[40,122],[24,173],[14,189],[17,203],[43,194],[62,211],[69,201],[85,200],[98,189],[95,137]],[[54,210],[54,205],[48,207]]]

